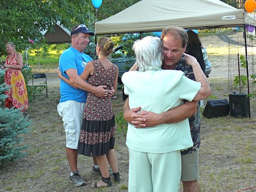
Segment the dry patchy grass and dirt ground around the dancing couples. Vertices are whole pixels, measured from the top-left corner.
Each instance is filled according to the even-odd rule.
[[[238,34],[241,35],[241,34]],[[228,46],[218,36],[200,38],[202,45]],[[207,50],[207,49],[206,49]],[[212,85],[210,99],[227,98],[228,56],[208,56],[212,72],[208,78]],[[79,156],[78,169],[88,183],[75,187],[68,180],[69,165],[65,155],[65,139],[62,119],[56,106],[59,101],[59,79],[55,71],[47,74],[49,99],[36,99],[26,114],[34,121],[31,134],[25,142],[30,147],[29,155],[18,162],[0,169],[1,192],[127,192],[128,149],[125,132],[117,132],[115,150],[122,183],[113,182],[112,188],[94,190],[92,182],[100,179],[92,174],[92,158]],[[117,99],[112,100],[114,113],[118,116],[124,101],[118,90]],[[206,100],[204,101],[206,104]],[[201,128],[201,150],[199,154],[200,184],[202,192],[236,192],[256,185],[256,105],[252,104],[251,119],[218,118],[203,119]],[[180,192],[182,189],[180,189]],[[248,190],[246,192],[255,192]]]

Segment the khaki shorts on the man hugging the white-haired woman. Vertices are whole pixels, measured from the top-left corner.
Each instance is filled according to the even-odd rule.
[[[194,181],[199,179],[198,150],[181,156],[181,181]]]

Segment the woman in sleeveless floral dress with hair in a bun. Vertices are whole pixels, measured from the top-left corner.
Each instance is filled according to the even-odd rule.
[[[114,42],[107,37],[101,37],[96,45],[98,60],[88,62],[80,75],[92,86],[106,85],[106,89],[114,88],[116,92],[118,67],[108,60],[113,52]],[[72,85],[65,77],[62,80]],[[74,85],[72,85],[74,86]],[[99,98],[88,92],[84,119],[78,142],[78,154],[95,157],[102,173],[102,180],[92,183],[92,187],[112,186],[108,172],[108,163],[113,170],[114,180],[120,182],[117,158],[114,151],[115,116],[112,110],[111,98]]]

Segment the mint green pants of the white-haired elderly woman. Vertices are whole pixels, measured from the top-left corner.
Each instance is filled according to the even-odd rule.
[[[178,192],[180,175],[180,150],[157,154],[129,149],[128,192]]]

